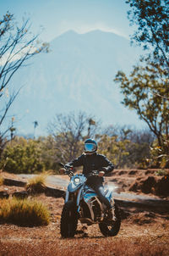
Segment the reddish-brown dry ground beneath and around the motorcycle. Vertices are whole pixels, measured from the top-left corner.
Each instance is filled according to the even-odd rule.
[[[126,175],[126,180],[128,175]],[[119,178],[122,175],[109,177]],[[107,178],[109,180],[109,178]],[[133,176],[131,177],[133,178]],[[119,180],[118,180],[119,181]],[[131,180],[130,180],[131,181]],[[126,182],[131,184],[131,182]],[[125,186],[126,188],[127,186]],[[1,191],[12,194],[23,187],[0,186]],[[169,214],[154,214],[131,209],[128,215],[122,212],[122,225],[117,237],[103,237],[97,225],[91,225],[85,232],[78,232],[74,239],[62,239],[59,225],[63,198],[38,197],[51,211],[51,222],[41,227],[20,227],[0,225],[0,256],[6,255],[169,255]],[[125,211],[125,210],[124,210]],[[79,224],[78,231],[82,231]]]

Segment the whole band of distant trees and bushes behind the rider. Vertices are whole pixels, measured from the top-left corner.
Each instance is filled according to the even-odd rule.
[[[69,123],[69,128],[64,122],[70,117],[76,122]],[[3,150],[0,168],[11,173],[30,174],[45,170],[57,172],[58,162],[67,163],[83,153],[84,141],[88,136],[95,137],[98,142],[98,153],[105,154],[116,168],[147,168],[161,165],[152,158],[150,148],[155,143],[155,136],[148,130],[136,131],[127,126],[112,125],[103,129],[96,120],[91,121],[82,113],[80,119],[79,116],[72,119],[71,113],[62,116],[60,122],[62,130],[53,128],[49,136],[38,139],[15,137]],[[56,122],[55,125],[57,124]],[[82,124],[84,129],[80,131]],[[39,183],[43,184],[43,181]]]

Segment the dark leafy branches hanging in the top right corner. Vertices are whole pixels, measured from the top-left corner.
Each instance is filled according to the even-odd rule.
[[[169,2],[168,0],[128,0],[128,18],[137,26],[132,40],[153,51],[156,63],[169,68]]]

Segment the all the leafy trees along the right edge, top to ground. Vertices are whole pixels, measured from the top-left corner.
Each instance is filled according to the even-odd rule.
[[[146,52],[130,75],[119,71],[115,81],[120,84],[124,106],[134,109],[157,139],[157,144],[151,146],[147,164],[164,168],[169,166],[169,2],[127,0],[126,3],[130,6],[131,25],[137,28],[132,42],[142,45]]]

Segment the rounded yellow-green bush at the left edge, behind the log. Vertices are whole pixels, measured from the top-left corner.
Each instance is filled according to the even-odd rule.
[[[8,144],[3,151],[1,164],[4,170],[13,173],[29,174],[45,170],[38,142],[23,137]]]

